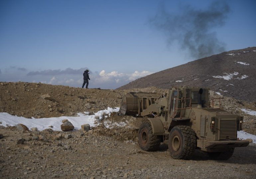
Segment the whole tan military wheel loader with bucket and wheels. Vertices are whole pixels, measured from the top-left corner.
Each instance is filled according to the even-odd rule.
[[[164,142],[174,159],[187,159],[197,148],[225,160],[235,147],[248,146],[249,140],[237,138],[243,117],[222,110],[220,103],[214,108],[213,100],[210,106],[209,89],[197,87],[171,88],[168,96],[131,92],[123,97],[119,112],[148,116],[138,131],[143,150],[155,151]]]

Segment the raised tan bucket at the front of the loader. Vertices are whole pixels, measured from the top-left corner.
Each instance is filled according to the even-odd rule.
[[[150,104],[155,103],[155,100],[160,95],[157,93],[146,92],[130,92],[124,95],[121,106],[121,115],[133,115],[138,116],[146,109]]]

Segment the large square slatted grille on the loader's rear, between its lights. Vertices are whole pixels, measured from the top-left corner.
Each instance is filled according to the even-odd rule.
[[[220,119],[219,140],[236,140],[236,119]]]

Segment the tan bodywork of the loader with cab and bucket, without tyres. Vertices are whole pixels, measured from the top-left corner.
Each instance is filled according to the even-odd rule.
[[[187,125],[194,130],[197,147],[201,150],[214,152],[247,146],[248,141],[237,140],[237,131],[241,126],[239,120],[242,118],[220,108],[212,108],[209,90],[201,89],[201,96],[198,94],[199,90],[197,87],[172,88],[168,96],[128,93],[123,98],[120,112],[123,115],[150,116],[148,120],[153,134],[164,136],[164,142],[174,126]],[[215,125],[211,124],[212,120]]]

